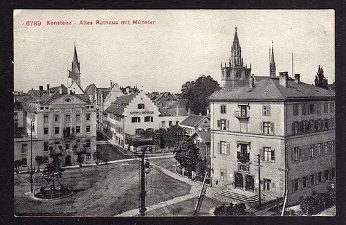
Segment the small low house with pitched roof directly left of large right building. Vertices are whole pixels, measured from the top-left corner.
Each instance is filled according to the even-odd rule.
[[[185,129],[186,134],[192,136],[195,132],[210,130],[210,119],[207,116],[190,115],[179,125]]]

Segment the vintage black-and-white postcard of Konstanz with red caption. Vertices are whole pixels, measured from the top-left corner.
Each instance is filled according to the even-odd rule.
[[[15,216],[336,215],[334,10],[14,10]]]

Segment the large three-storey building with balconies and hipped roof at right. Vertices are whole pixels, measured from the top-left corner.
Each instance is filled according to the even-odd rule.
[[[292,205],[335,183],[334,92],[286,73],[249,83],[210,99],[213,185],[258,193],[260,184],[262,199],[287,191]]]

